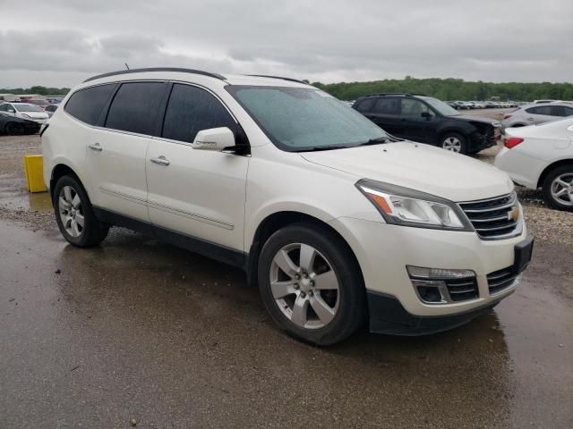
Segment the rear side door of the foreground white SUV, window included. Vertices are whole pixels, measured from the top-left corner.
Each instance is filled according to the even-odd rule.
[[[86,167],[97,206],[149,222],[145,156],[158,134],[166,88],[160,81],[121,84],[100,119],[103,126],[90,133]]]

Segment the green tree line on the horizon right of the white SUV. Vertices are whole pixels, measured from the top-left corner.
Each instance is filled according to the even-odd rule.
[[[436,97],[440,100],[489,100],[533,101],[539,99],[573,100],[572,83],[492,83],[461,79],[406,79],[373,80],[369,82],[340,82],[323,84],[313,82],[330,95],[341,100],[355,100],[372,93],[406,92]]]

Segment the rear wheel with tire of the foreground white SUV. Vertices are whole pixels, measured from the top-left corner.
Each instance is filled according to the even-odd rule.
[[[90,198],[76,176],[66,175],[58,179],[53,205],[57,226],[64,239],[73,246],[88,248],[107,237],[109,225],[96,219]]]

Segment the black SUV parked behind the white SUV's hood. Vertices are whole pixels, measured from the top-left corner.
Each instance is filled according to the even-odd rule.
[[[396,137],[462,154],[494,146],[500,132],[500,122],[459,114],[443,101],[419,94],[371,94],[358,98],[353,108]]]

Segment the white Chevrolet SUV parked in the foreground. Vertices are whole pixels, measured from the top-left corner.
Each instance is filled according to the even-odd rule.
[[[64,238],[111,225],[244,268],[272,319],[314,344],[464,324],[531,257],[504,172],[389,136],[320,89],[141,69],[86,80],[42,130]]]

